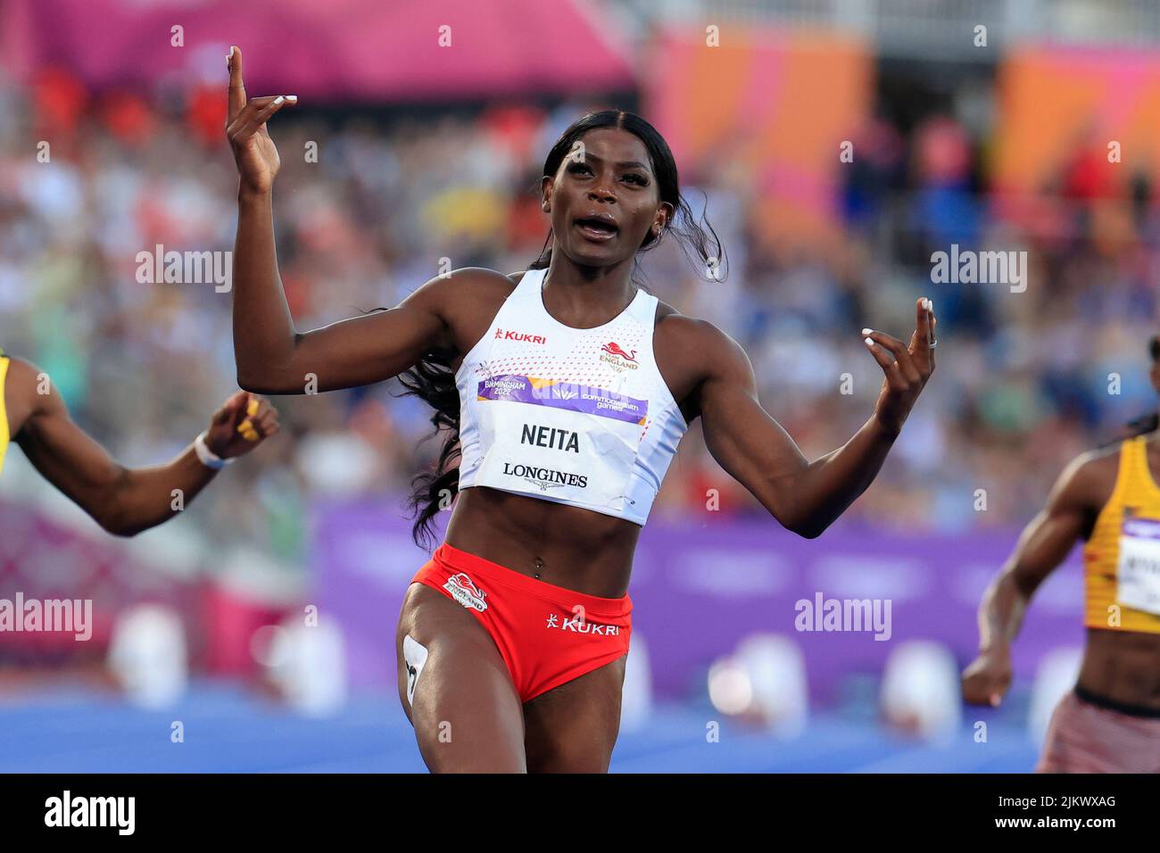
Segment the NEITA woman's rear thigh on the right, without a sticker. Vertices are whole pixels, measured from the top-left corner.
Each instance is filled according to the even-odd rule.
[[[621,730],[626,660],[618,658],[523,706],[529,772],[608,772]]]

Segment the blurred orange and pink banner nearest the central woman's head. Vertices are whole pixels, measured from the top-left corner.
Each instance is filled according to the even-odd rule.
[[[820,245],[839,233],[841,146],[856,139],[872,102],[865,43],[726,24],[669,31],[651,53],[645,116],[682,178],[716,173],[746,186],[757,236],[771,244]]]

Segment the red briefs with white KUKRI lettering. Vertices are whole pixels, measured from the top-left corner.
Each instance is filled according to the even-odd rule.
[[[495,641],[521,702],[629,652],[632,599],[586,595],[447,542],[412,583],[458,601]]]

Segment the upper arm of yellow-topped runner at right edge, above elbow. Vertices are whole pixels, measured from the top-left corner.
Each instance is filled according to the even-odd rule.
[[[1094,497],[1097,464],[1094,454],[1072,460],[1052,486],[1046,506],[1020,535],[1007,573],[1024,595],[1031,595],[1075,542],[1090,533],[1102,503]]]

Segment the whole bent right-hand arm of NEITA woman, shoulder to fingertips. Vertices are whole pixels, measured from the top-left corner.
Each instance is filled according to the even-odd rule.
[[[842,447],[810,462],[757,400],[745,350],[705,324],[711,364],[698,389],[705,444],[785,528],[815,538],[873,482],[930,373],[934,315],[920,299],[911,346],[871,332],[871,352],[886,378],[873,417]],[[921,330],[921,333],[920,333]]]

